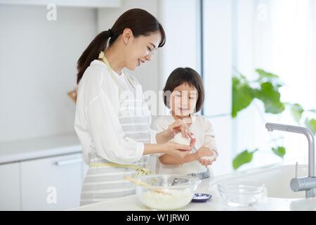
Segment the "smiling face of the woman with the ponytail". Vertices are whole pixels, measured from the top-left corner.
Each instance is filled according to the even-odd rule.
[[[162,39],[159,31],[149,36],[133,37],[133,32],[126,29],[123,32],[123,39],[126,44],[125,65],[129,70],[135,70],[138,66],[150,61],[154,51]]]

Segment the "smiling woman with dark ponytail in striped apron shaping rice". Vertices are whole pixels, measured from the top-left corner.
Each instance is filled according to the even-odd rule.
[[[124,176],[146,174],[148,155],[183,158],[194,146],[195,139],[190,146],[169,142],[180,131],[192,138],[180,120],[159,134],[150,129],[150,112],[142,92],[137,94],[141,86],[123,71],[149,61],[164,43],[164,29],[157,19],[134,8],[122,14],[110,30],[98,34],[80,56],[74,129],[84,162],[90,165],[81,205],[133,194]]]

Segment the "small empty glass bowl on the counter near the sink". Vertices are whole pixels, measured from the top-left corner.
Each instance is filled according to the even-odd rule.
[[[223,181],[218,191],[225,203],[232,207],[251,207],[262,200],[265,184],[260,181]]]

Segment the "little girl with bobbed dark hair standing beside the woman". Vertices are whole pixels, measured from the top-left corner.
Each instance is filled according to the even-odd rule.
[[[164,104],[171,109],[171,115],[159,117],[156,127],[158,131],[165,131],[175,120],[183,120],[195,136],[196,148],[184,158],[158,154],[157,173],[190,174],[200,179],[211,176],[207,165],[216,160],[218,153],[211,122],[195,114],[202,109],[203,102],[204,86],[199,74],[191,68],[173,70],[164,87]],[[208,160],[211,156],[213,160]]]

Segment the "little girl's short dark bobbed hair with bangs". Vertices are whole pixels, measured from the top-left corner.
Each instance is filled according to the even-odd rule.
[[[195,105],[195,110],[198,112],[202,109],[204,103],[204,85],[202,77],[199,73],[192,68],[176,68],[171,72],[171,75],[166,81],[164,86],[164,105],[170,108],[170,96],[171,93],[176,89],[177,86],[181,84],[188,84],[194,86],[197,89],[197,104]]]

